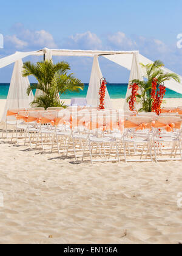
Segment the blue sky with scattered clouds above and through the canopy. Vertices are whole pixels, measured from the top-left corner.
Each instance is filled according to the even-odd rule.
[[[177,48],[181,10],[181,0],[3,1],[0,34],[4,35],[4,49],[0,49],[0,57],[44,47],[139,50],[182,75],[182,49]],[[92,59],[66,60],[78,78],[89,82]],[[115,63],[101,58],[100,65],[109,82],[129,79],[129,72]],[[10,82],[12,68],[0,69],[0,82]]]

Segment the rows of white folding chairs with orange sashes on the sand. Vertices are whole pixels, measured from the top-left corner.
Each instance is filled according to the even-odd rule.
[[[29,116],[30,119],[31,117],[34,117],[38,120],[43,117],[52,121],[55,120],[55,117],[59,118],[59,116],[64,115],[61,112],[33,112],[33,110],[30,112],[19,113],[21,113],[21,116],[25,116],[25,118]],[[94,116],[94,112],[91,113]],[[37,148],[40,145],[42,150],[46,150],[45,146],[50,145],[51,151],[53,151],[56,146],[59,154],[62,152],[68,156],[70,152],[73,152],[75,160],[78,160],[79,157],[81,157],[82,161],[86,155],[89,155],[92,163],[95,161],[106,160],[120,162],[121,157],[124,157],[126,162],[136,161],[134,158],[136,156],[140,157],[139,161],[153,161],[153,159],[156,161],[182,159],[181,129],[172,127],[170,132],[166,131],[166,126],[169,124],[181,122],[179,116],[161,116],[158,118],[157,121],[164,124],[164,127],[160,127],[160,129],[153,127],[136,129],[136,127],[141,124],[152,124],[153,119],[146,116],[144,113],[143,116],[142,114],[139,116],[127,116],[125,121],[136,124],[136,127],[129,127],[123,130],[118,130],[116,128],[105,130],[103,129],[106,125],[104,122],[106,122],[107,118],[110,119],[110,116],[112,116],[115,122],[118,123],[118,115],[114,115],[116,112],[105,113],[110,113],[110,115],[99,115],[99,121],[101,121],[101,118],[103,117],[103,126],[100,126],[99,128],[93,127],[91,130],[90,126],[83,125],[88,121],[88,116],[84,115],[84,112],[79,112],[78,114],[78,116],[80,115],[80,118],[83,118],[82,125],[75,125],[74,127],[70,126],[69,118],[64,119],[64,123],[61,123],[58,126],[52,124],[52,121],[50,121],[50,123],[47,122],[47,124],[42,124],[41,119],[39,122],[25,122],[24,120],[16,119],[11,140],[13,141],[13,135],[16,133],[16,143],[24,141],[24,144],[26,145],[28,139],[30,146],[35,144]],[[66,116],[64,116],[64,118],[65,117]],[[98,113],[95,115],[95,118],[97,118],[95,120],[98,121]],[[78,156],[78,152],[82,152],[82,154]],[[177,155],[180,155],[180,157],[177,157]],[[168,157],[166,158],[166,156]]]

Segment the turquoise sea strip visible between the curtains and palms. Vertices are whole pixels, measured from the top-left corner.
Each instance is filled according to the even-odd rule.
[[[0,99],[6,99],[10,84],[0,84]],[[85,84],[84,91],[79,93],[67,93],[62,96],[64,99],[70,98],[85,98],[87,95],[89,84]],[[127,91],[127,84],[107,84],[107,90],[109,91],[111,99],[125,98]],[[167,89],[165,98],[182,98],[182,94],[175,93]]]

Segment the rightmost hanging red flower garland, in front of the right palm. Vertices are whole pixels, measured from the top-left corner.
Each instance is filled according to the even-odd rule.
[[[161,105],[163,103],[163,98],[166,94],[166,87],[164,85],[159,85],[157,88],[158,80],[154,78],[152,80],[152,92],[151,97],[153,99],[152,102],[152,112],[157,113],[159,116],[161,114]]]

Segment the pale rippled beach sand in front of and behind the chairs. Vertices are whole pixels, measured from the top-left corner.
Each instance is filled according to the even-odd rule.
[[[182,162],[75,164],[0,144],[0,243],[182,243]]]

